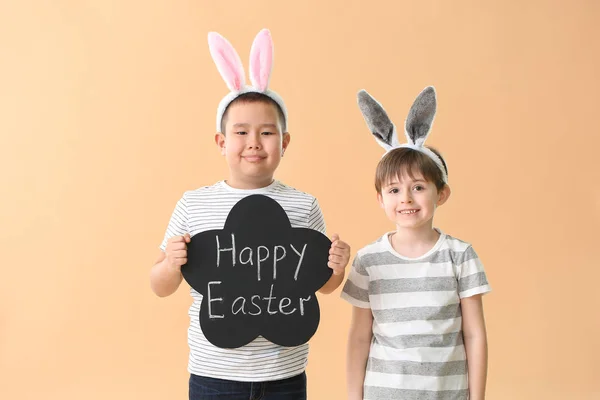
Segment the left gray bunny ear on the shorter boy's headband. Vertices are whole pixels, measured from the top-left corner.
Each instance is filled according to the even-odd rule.
[[[394,124],[381,104],[366,90],[359,91],[357,97],[358,107],[377,142],[386,150],[397,145],[398,140],[395,137]]]

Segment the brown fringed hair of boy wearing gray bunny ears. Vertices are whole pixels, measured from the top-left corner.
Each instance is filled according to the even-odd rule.
[[[441,154],[432,147],[428,146],[427,148],[442,160],[442,165],[448,175],[448,167],[446,167],[446,162]],[[402,174],[408,174],[414,179],[415,171],[423,175],[426,181],[434,183],[438,190],[442,190],[446,185],[442,171],[431,157],[415,149],[400,147],[388,152],[377,164],[375,190],[377,193],[381,193],[382,186]]]

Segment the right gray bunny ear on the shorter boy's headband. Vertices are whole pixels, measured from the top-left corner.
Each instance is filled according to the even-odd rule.
[[[435,118],[437,100],[433,86],[426,87],[415,99],[404,126],[409,143],[422,146]]]

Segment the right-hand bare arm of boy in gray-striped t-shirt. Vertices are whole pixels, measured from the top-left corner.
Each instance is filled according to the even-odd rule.
[[[469,399],[484,400],[487,379],[487,335],[483,317],[481,295],[460,301],[463,319],[463,336],[467,351],[469,374]]]

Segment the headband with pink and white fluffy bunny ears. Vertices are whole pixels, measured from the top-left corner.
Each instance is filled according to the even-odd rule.
[[[287,124],[287,109],[281,96],[269,89],[269,79],[273,68],[273,40],[268,29],[261,30],[252,43],[250,50],[250,82],[246,85],[244,66],[240,56],[231,43],[216,32],[208,34],[210,54],[217,65],[219,73],[227,84],[229,92],[219,103],[217,109],[217,132],[221,132],[221,121],[227,106],[245,93],[262,93],[275,101]]]

